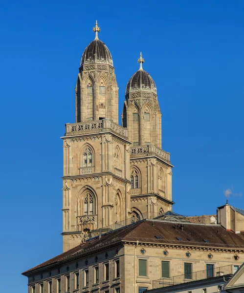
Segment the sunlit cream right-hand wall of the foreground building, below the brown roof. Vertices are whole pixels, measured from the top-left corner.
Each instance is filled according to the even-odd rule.
[[[144,248],[145,253],[141,254],[140,250]],[[168,255],[164,256],[163,251],[168,251]],[[184,274],[184,263],[192,263],[192,271],[198,272],[206,270],[206,264],[214,264],[215,268],[223,267],[228,265],[241,265],[244,262],[244,254],[240,253],[240,259],[235,261],[233,252],[218,252],[218,251],[200,251],[200,250],[189,250],[191,256],[186,257],[185,253],[187,249],[175,249],[160,248],[160,247],[149,247],[138,245],[126,245],[125,246],[125,263],[127,264],[127,270],[125,271],[125,279],[127,287],[126,292],[137,293],[138,287],[148,287],[152,289],[152,281],[161,278],[161,261],[170,262],[170,276],[178,276]],[[211,252],[213,255],[212,259],[208,259],[208,253]],[[147,277],[138,276],[138,259],[147,259],[148,262],[148,275]],[[194,276],[194,274],[193,274]],[[205,273],[203,278],[205,277]],[[182,282],[179,277],[175,278],[175,282]],[[135,287],[134,287],[135,284]]]

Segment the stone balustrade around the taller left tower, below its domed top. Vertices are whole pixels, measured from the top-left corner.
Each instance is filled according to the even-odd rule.
[[[112,131],[120,136],[127,137],[127,129],[112,122],[110,119],[82,123],[67,123],[66,136],[78,135],[88,132]]]

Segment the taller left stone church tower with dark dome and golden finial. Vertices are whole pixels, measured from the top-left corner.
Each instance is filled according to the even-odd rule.
[[[118,125],[118,86],[111,53],[98,39],[86,47],[75,89],[76,119],[66,124],[63,249],[107,231],[130,213],[130,141]],[[115,225],[115,224],[114,224]],[[119,225],[119,224],[118,224]]]

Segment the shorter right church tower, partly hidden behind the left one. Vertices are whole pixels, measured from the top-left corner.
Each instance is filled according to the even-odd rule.
[[[122,126],[127,127],[130,148],[131,210],[134,217],[155,218],[172,210],[172,165],[170,154],[161,149],[161,112],[156,85],[139,70],[126,87]]]

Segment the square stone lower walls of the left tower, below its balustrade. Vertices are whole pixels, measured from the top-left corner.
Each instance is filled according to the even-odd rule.
[[[94,167],[83,167],[83,151],[89,146],[93,152]],[[119,168],[115,168],[115,153],[119,152]],[[77,226],[77,216],[83,216],[79,202],[89,188],[96,199],[95,223],[90,230],[114,224],[116,217],[115,196],[120,198],[120,217],[125,220],[130,211],[129,146],[111,134],[64,140],[63,178],[63,232],[64,251],[80,244],[83,226]],[[114,174],[115,176],[113,176]],[[72,177],[72,179],[70,178]],[[121,178],[121,179],[120,179]],[[79,227],[79,228],[78,228]],[[71,233],[80,230],[80,233]],[[69,234],[67,234],[69,232]]]

